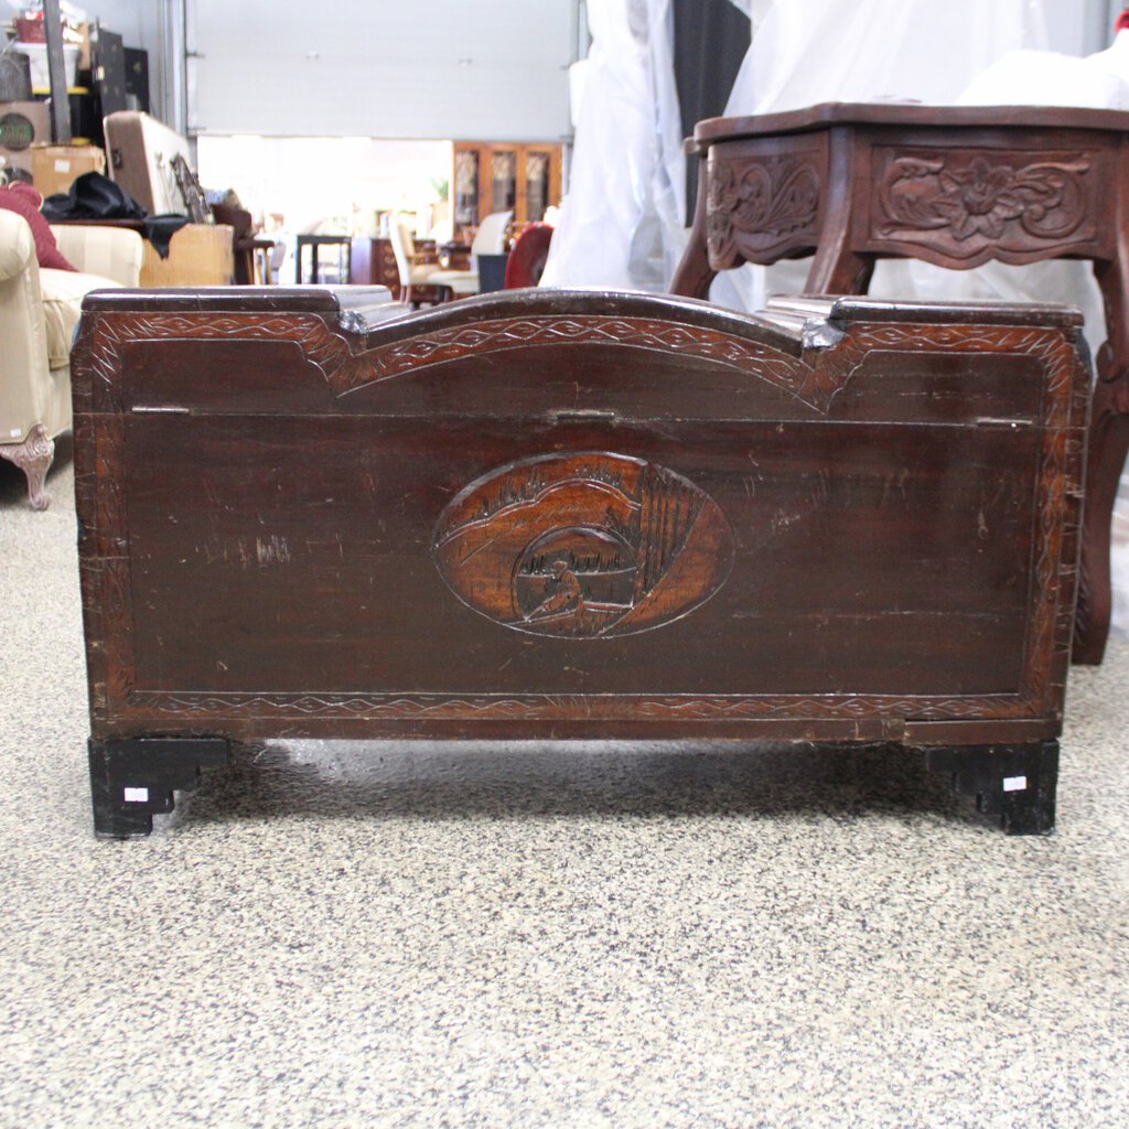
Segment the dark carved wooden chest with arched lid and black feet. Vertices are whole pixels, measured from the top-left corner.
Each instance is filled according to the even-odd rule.
[[[87,299],[99,834],[307,736],[893,742],[1051,828],[1075,314],[380,298]]]

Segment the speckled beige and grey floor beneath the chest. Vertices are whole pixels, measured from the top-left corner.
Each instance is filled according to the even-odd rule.
[[[1129,1124],[1129,646],[1048,839],[881,750],[305,743],[98,842],[51,484],[0,466],[0,1126]]]

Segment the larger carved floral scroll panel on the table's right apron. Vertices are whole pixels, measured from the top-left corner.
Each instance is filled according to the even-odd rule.
[[[959,259],[989,245],[1022,251],[1087,238],[1092,233],[1079,228],[1089,212],[1083,181],[1089,169],[1082,157],[1021,164],[969,155],[898,156],[878,190],[876,234],[920,239]]]

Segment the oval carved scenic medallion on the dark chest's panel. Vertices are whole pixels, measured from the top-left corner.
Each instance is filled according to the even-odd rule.
[[[703,490],[607,453],[491,471],[450,501],[432,544],[439,572],[469,607],[563,639],[671,623],[709,599],[733,563],[729,524]]]

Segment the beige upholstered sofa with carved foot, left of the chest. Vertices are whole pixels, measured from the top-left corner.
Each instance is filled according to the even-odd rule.
[[[71,426],[70,350],[84,295],[135,287],[142,239],[110,227],[52,227],[72,271],[41,270],[27,221],[0,210],[0,458],[27,475],[28,499],[46,508],[44,480],[55,436]]]

